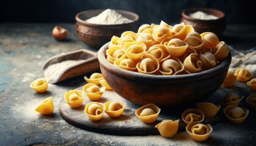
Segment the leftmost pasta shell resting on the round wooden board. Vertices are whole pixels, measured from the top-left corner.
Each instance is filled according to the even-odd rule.
[[[69,90],[65,92],[64,98],[71,108],[78,108],[83,103],[84,94],[81,90]]]

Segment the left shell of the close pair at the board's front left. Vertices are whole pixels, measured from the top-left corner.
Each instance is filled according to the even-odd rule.
[[[84,112],[87,114],[90,120],[101,120],[105,111],[105,105],[99,102],[91,102],[85,105]]]

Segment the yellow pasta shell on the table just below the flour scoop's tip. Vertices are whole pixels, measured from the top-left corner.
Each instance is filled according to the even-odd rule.
[[[48,82],[49,78],[37,78],[37,80],[34,80],[32,83],[30,83],[30,88],[34,89],[38,93],[43,93],[48,88]]]

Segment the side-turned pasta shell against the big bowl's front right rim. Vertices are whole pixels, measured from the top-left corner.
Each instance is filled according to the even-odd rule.
[[[202,69],[202,61],[197,58],[197,54],[190,54],[183,61],[185,69],[190,73],[200,72]]]

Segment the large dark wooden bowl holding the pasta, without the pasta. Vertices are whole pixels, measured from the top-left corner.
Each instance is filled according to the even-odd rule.
[[[119,96],[137,105],[154,103],[171,107],[188,105],[211,96],[227,75],[231,54],[218,66],[207,71],[187,75],[148,75],[126,71],[109,63],[105,51],[108,43],[99,49],[101,72],[108,85]]]

